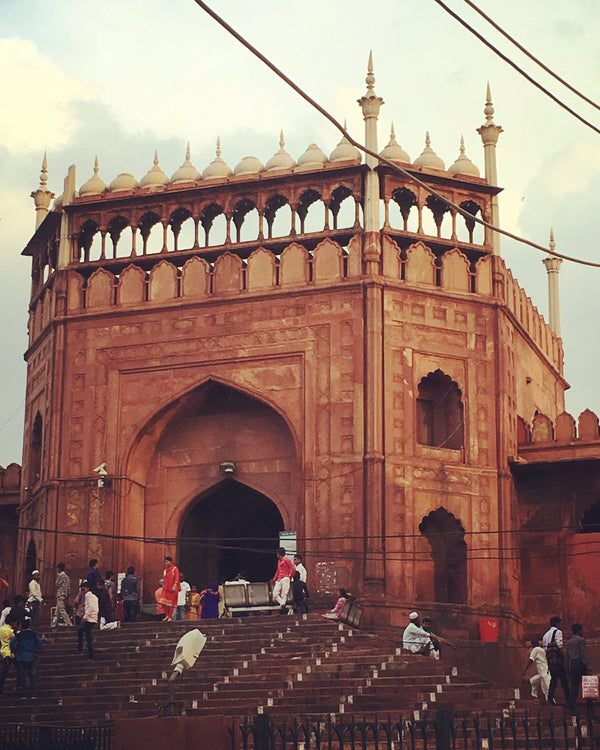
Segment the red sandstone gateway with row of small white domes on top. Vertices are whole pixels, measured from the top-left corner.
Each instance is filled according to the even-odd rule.
[[[372,70],[359,103],[377,150]],[[50,209],[44,167],[19,549],[134,565],[149,602],[167,549],[197,586],[266,581],[293,531],[311,593],[351,587],[367,620],[418,606],[502,638],[583,597],[597,619],[576,531],[598,420],[563,413],[556,286],[550,327],[470,218],[498,220],[489,91],[485,114],[484,178],[394,133],[407,175],[345,139],[296,163],[282,137],[264,167],[218,144],[202,175],[188,149],[170,179],[156,157],[107,187],[96,164],[78,193],[73,167]]]

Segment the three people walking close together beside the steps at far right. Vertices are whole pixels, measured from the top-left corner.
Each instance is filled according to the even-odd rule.
[[[536,674],[529,679],[531,695],[537,698],[541,689],[544,698],[552,705],[556,705],[554,695],[560,682],[567,707],[574,710],[581,678],[589,673],[587,646],[580,623],[574,622],[571,625],[572,637],[566,644],[563,642],[561,625],[560,617],[551,617],[550,627],[544,633],[541,645],[539,638],[532,639],[523,677],[530,667],[535,666]]]

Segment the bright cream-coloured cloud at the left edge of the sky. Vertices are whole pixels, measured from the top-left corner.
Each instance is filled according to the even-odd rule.
[[[0,119],[0,143],[11,152],[58,148],[77,129],[72,104],[94,90],[65,75],[34,42],[0,39],[2,98],[10,102]]]

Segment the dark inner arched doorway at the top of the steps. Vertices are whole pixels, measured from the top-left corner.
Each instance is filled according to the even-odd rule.
[[[250,581],[273,577],[283,519],[277,506],[241,482],[225,480],[192,502],[179,533],[186,580],[206,587],[243,571]]]

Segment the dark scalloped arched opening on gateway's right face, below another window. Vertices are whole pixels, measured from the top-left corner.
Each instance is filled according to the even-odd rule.
[[[419,531],[431,545],[435,601],[466,604],[467,543],[462,524],[438,508],[421,521]]]

